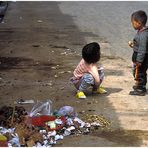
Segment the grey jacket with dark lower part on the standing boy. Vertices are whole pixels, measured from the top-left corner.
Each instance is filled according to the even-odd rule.
[[[132,61],[148,67],[148,27],[137,32],[133,43]]]

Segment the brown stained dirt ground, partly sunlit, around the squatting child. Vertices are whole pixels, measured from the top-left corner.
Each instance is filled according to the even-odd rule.
[[[109,48],[107,41],[81,32],[56,2],[48,7],[47,3],[10,3],[0,24],[1,106],[19,98],[50,99],[53,110],[70,105],[80,118],[86,113],[101,114],[111,122],[107,130],[65,137],[56,146],[148,146],[148,100],[147,96],[128,95],[134,83],[129,60],[108,55],[104,52]],[[101,45],[103,86],[108,93],[79,100],[69,79],[82,47],[91,41]]]

